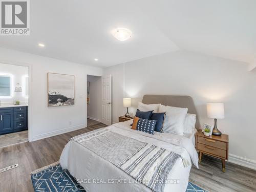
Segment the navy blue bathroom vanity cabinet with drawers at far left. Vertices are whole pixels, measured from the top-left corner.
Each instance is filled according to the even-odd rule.
[[[28,107],[0,108],[0,134],[28,129]]]

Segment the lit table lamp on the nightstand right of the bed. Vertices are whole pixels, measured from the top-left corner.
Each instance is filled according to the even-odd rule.
[[[224,119],[224,104],[223,103],[207,103],[207,116],[214,119],[214,129],[212,135],[220,136],[221,132],[217,128],[217,119]]]

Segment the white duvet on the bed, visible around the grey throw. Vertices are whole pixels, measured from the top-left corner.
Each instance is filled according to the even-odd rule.
[[[181,155],[168,176],[164,191],[185,191],[191,168],[191,161],[198,167],[198,154],[191,139],[174,134],[154,135],[132,130],[132,120],[116,123],[108,127],[112,132],[131,137],[142,142],[154,144]],[[109,161],[99,157],[88,148],[73,140],[69,141],[60,156],[60,165],[79,181],[87,192],[140,192],[151,191],[134,180]]]

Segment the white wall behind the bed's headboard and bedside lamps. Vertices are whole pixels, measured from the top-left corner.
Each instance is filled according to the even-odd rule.
[[[218,120],[218,127],[229,135],[229,159],[256,168],[252,151],[256,145],[256,72],[248,72],[245,63],[177,51],[117,65],[103,73],[113,75],[114,122],[125,113],[123,95],[133,98],[134,106],[145,94],[189,95],[201,124],[214,124],[207,118],[206,103],[223,102],[225,119]],[[135,113],[135,109],[130,110]]]

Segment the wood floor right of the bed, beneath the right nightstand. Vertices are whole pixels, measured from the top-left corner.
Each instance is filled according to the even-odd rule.
[[[203,155],[199,169],[191,168],[189,181],[211,192],[255,192],[256,170],[226,162],[223,173],[220,159]]]

